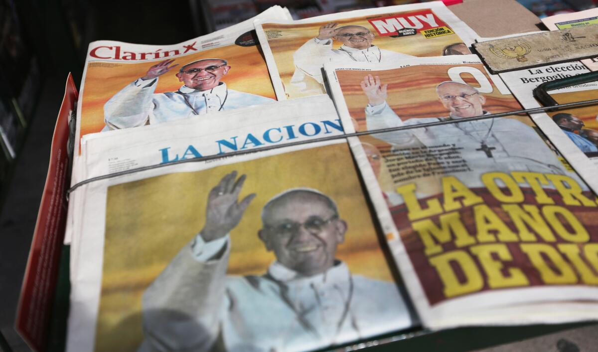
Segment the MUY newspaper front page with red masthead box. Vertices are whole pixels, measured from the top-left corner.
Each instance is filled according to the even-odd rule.
[[[440,1],[255,23],[278,100],[326,93],[324,63],[470,54],[475,32]]]

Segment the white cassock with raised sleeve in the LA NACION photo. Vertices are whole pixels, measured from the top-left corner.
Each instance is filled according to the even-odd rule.
[[[412,325],[394,283],[352,275],[343,262],[310,277],[270,265],[226,276],[230,237],[200,235],[145,290],[140,351],[303,351]]]

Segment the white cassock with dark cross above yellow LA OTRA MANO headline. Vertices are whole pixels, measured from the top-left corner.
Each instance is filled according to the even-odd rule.
[[[488,115],[489,112],[484,112]],[[402,121],[387,103],[365,108],[368,131],[380,128],[414,126],[448,120],[449,118],[411,118]],[[510,118],[497,117],[478,121],[413,128],[403,131],[372,134],[397,149],[413,146],[451,146],[458,149],[457,159],[465,160],[469,171],[454,173],[468,187],[482,187],[481,175],[488,172],[539,172],[576,175],[566,172],[562,163],[538,133],[526,124]],[[455,155],[457,155],[457,152]],[[451,173],[447,173],[451,175]],[[579,183],[584,187],[584,183]]]

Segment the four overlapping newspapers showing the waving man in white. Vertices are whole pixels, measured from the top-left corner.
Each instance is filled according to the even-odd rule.
[[[548,115],[517,113],[534,74],[490,75],[476,39],[427,2],[93,42],[67,349],[597,319],[598,170]]]

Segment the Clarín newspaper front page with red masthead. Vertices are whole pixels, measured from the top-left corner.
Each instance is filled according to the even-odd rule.
[[[174,45],[89,45],[77,111],[77,144],[100,131],[160,124],[276,101],[253,20],[290,19],[271,7]],[[75,169],[79,153],[75,154]],[[73,181],[78,182],[75,170]]]

